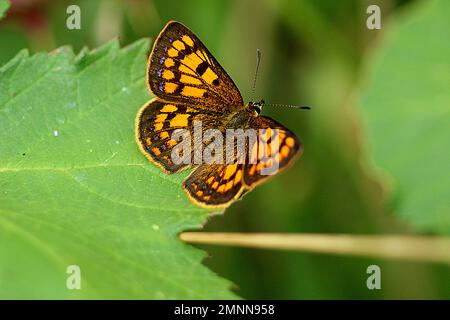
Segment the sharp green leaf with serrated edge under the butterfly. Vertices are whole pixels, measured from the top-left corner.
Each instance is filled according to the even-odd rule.
[[[1,298],[236,298],[177,234],[208,212],[140,153],[148,41],[0,69]],[[69,265],[81,289],[69,290]]]

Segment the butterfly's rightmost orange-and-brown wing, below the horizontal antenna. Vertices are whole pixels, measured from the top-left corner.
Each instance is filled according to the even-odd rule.
[[[302,143],[293,132],[269,117],[254,117],[249,127],[258,132],[256,143],[248,145],[250,156],[244,170],[244,183],[250,189],[289,166],[301,154]]]

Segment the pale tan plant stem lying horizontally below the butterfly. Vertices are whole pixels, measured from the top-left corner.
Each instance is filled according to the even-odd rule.
[[[450,265],[450,238],[402,235],[184,232],[189,243],[391,258]]]

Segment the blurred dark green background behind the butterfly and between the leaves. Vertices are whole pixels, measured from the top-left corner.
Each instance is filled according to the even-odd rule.
[[[153,39],[168,20],[191,28],[251,97],[256,49],[262,62],[256,98],[301,104],[310,112],[267,107],[263,113],[298,134],[305,152],[287,172],[247,194],[207,223],[207,231],[388,234],[412,232],[384,206],[380,184],[364,170],[364,132],[353,94],[389,22],[413,1],[12,1],[0,22],[0,65],[20,49],[95,48]],[[65,27],[66,8],[81,8],[81,30]],[[366,28],[378,4],[382,26]],[[202,247],[205,264],[249,299],[450,298],[449,268],[323,254]],[[368,290],[378,264],[382,290]]]

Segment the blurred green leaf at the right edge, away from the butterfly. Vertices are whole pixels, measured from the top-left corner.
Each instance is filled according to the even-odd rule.
[[[450,2],[408,9],[385,34],[360,104],[396,213],[450,234]]]

